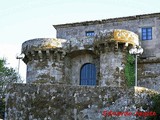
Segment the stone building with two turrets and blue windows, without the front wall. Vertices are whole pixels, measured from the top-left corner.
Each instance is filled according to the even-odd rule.
[[[53,26],[57,39],[22,45],[28,83],[124,86],[126,53],[140,44],[139,85],[158,89],[160,13]]]

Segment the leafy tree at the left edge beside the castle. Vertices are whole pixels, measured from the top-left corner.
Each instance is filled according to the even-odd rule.
[[[13,68],[6,65],[6,60],[0,59],[0,118],[4,117],[7,87],[11,83],[22,82],[19,74]]]

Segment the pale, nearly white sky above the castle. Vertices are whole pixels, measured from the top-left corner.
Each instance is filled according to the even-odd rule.
[[[24,41],[55,38],[52,25],[160,12],[160,0],[0,0],[0,58],[18,69]],[[26,65],[20,62],[26,78]]]

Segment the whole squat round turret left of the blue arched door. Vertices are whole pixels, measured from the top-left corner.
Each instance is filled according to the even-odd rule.
[[[27,83],[61,83],[63,57],[61,41],[51,38],[32,39],[22,44],[27,65]]]

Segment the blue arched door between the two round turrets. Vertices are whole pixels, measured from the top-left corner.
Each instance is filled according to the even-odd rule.
[[[96,67],[94,64],[84,64],[80,71],[80,85],[96,85]]]

